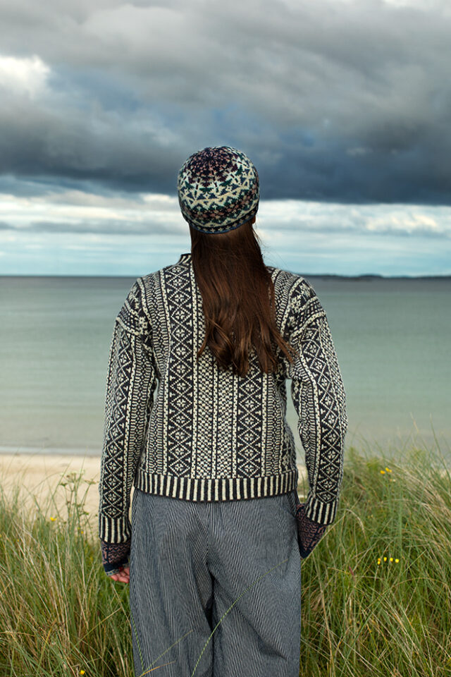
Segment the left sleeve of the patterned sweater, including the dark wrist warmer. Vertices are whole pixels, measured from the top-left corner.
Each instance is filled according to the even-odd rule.
[[[156,387],[152,328],[141,279],[133,284],[113,328],[106,380],[99,481],[99,537],[106,573],[128,563],[130,492],[144,446]]]

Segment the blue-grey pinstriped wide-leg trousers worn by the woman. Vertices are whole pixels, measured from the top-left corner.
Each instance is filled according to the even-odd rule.
[[[297,502],[296,491],[200,503],[134,490],[136,677],[299,677]]]

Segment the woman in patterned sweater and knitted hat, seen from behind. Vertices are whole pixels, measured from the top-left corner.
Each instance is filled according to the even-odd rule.
[[[264,264],[259,176],[244,153],[194,153],[178,197],[191,252],[135,281],[113,331],[104,570],[130,581],[136,676],[295,677],[301,560],[335,520],[342,482],[335,349],[309,282]]]

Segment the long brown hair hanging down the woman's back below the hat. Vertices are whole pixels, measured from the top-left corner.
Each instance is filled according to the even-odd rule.
[[[254,222],[255,217],[232,231],[214,234],[190,226],[192,264],[206,322],[197,359],[208,345],[221,370],[232,365],[233,374],[241,377],[249,370],[252,348],[266,373],[277,370],[276,345],[290,362],[297,354],[276,325],[274,285]]]

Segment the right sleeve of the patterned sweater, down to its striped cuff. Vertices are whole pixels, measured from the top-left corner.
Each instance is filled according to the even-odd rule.
[[[310,283],[300,280],[287,322],[287,338],[298,351],[288,378],[309,480],[305,513],[309,520],[328,525],[335,520],[342,484],[345,389],[326,312]]]

